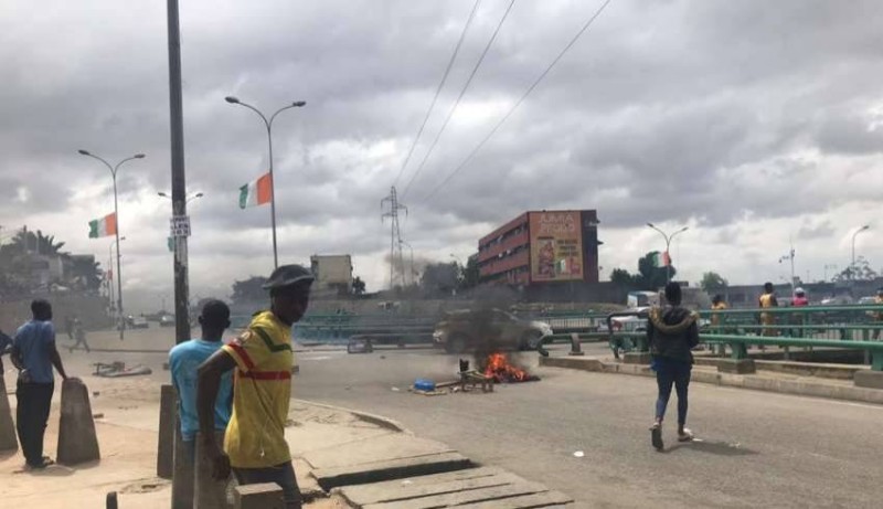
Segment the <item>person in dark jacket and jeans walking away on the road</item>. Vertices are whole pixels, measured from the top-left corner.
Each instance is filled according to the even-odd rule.
[[[688,386],[693,369],[691,350],[699,344],[699,316],[681,307],[681,287],[677,283],[666,285],[664,308],[650,310],[647,324],[647,339],[652,356],[651,368],[656,371],[659,396],[656,402],[656,420],[650,426],[651,444],[657,450],[664,448],[662,442],[662,420],[666,416],[671,396],[671,388],[678,393],[678,442],[690,442],[693,433],[685,427]]]

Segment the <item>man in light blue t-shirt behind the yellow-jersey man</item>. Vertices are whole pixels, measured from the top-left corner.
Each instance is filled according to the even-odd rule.
[[[169,352],[169,369],[172,384],[178,391],[178,415],[181,421],[181,437],[190,458],[194,455],[196,432],[200,431],[196,414],[196,380],[200,364],[223,347],[224,330],[230,327],[230,308],[221,300],[210,300],[202,307],[200,316],[202,338],[191,339]],[[214,405],[214,428],[224,432],[230,422],[233,403],[233,380],[227,373]]]

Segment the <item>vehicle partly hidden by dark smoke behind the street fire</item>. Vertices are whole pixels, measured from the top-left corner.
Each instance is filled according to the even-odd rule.
[[[552,335],[543,321],[521,320],[500,309],[449,311],[436,324],[433,342],[449,353],[475,351],[482,341],[512,350],[538,350]]]

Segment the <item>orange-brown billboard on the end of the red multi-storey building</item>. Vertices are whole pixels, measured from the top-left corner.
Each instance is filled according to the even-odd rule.
[[[529,222],[531,280],[582,280],[583,225],[579,212],[531,212]]]

